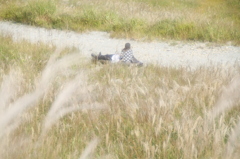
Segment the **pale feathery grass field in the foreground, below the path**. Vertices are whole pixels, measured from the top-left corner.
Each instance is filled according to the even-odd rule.
[[[102,65],[0,41],[0,158],[240,156],[239,66]]]

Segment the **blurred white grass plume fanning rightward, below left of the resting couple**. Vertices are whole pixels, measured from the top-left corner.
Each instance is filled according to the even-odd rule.
[[[74,111],[83,110],[83,109],[101,109],[103,108],[101,105],[90,107],[90,103],[87,101],[91,101],[90,99],[84,99],[82,96],[88,96],[89,91],[87,90],[87,79],[86,75],[80,73],[73,79],[68,82],[62,91],[57,95],[55,101],[53,102],[48,114],[43,123],[42,136],[46,134],[46,132],[53,126],[60,118],[64,117],[68,113],[72,113]],[[78,98],[82,98],[81,105],[74,104],[74,101],[78,101]],[[89,97],[90,98],[90,97]],[[87,100],[87,101],[86,101]]]

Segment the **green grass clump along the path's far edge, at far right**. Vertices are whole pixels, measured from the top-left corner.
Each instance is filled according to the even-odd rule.
[[[194,40],[194,41],[221,41],[223,37],[231,41],[232,37],[239,37],[239,34],[231,30],[222,30],[211,24],[198,25],[193,22],[182,20],[163,20],[149,27],[150,35],[163,36],[168,39]]]

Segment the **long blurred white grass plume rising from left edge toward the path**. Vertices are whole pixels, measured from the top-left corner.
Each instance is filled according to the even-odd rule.
[[[54,59],[48,62],[44,69],[39,82],[36,84],[36,89],[33,92],[27,93],[18,98],[11,106],[9,106],[0,117],[0,138],[4,135],[8,127],[16,126],[18,117],[29,107],[35,106],[38,100],[47,92],[54,77],[61,73],[61,70],[72,66],[79,62],[80,54],[70,54],[64,56],[58,61]],[[20,122],[19,122],[20,123]]]

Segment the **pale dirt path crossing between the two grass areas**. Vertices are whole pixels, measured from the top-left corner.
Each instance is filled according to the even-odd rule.
[[[211,64],[233,65],[240,63],[240,47],[200,42],[138,42],[112,39],[105,32],[75,33],[44,29],[11,22],[0,22],[0,35],[12,36],[14,40],[43,42],[57,46],[76,47],[90,58],[91,53],[119,53],[130,42],[134,55],[143,63],[158,63],[163,66],[198,67]]]

